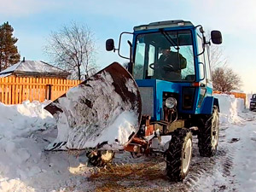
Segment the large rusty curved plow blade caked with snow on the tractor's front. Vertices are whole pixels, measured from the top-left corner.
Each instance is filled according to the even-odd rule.
[[[122,149],[139,129],[142,103],[135,80],[113,62],[45,107],[58,137],[47,150]]]

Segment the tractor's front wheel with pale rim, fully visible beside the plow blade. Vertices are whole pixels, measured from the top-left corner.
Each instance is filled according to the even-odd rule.
[[[183,181],[189,172],[192,157],[192,133],[186,128],[178,128],[172,133],[166,150],[166,174],[171,181]]]

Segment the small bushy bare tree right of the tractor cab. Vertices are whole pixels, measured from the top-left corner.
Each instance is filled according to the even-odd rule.
[[[217,67],[212,73],[212,82],[214,90],[222,92],[230,92],[231,90],[239,90],[241,87],[241,79],[229,67]]]

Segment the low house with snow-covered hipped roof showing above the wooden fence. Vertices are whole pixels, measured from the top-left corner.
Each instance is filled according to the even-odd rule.
[[[20,61],[0,72],[0,78],[15,76],[26,78],[56,78],[67,79],[70,75],[65,70],[49,65],[44,61]]]

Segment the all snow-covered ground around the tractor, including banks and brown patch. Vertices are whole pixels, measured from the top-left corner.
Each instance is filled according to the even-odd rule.
[[[256,113],[241,99],[216,95],[221,131],[218,153],[193,160],[183,183],[170,183],[160,156],[116,154],[113,166],[87,166],[83,153],[47,152],[57,137],[48,102],[0,103],[0,191],[256,191]],[[196,138],[196,137],[195,137]]]

